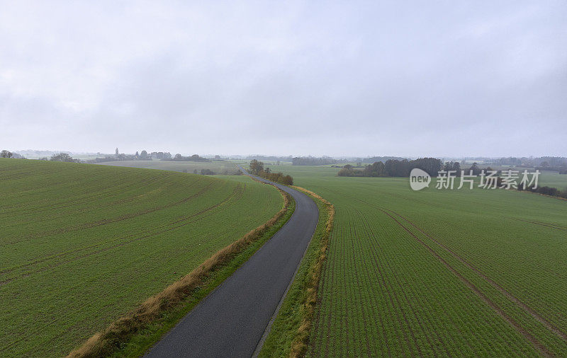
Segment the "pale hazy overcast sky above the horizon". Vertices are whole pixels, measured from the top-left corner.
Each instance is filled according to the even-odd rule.
[[[0,149],[567,156],[563,0],[0,9]]]

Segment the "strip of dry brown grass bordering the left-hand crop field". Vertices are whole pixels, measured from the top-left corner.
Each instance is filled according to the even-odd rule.
[[[275,186],[275,185],[274,185]],[[276,187],[277,188],[277,187]],[[128,338],[140,328],[152,323],[159,318],[161,313],[173,308],[184,299],[191,296],[191,292],[203,283],[203,279],[208,277],[215,268],[224,265],[240,253],[249,243],[257,240],[266,231],[276,224],[286,214],[290,197],[286,192],[277,188],[283,197],[283,208],[274,216],[256,229],[249,231],[245,236],[231,243],[229,246],[218,250],[213,256],[199,265],[188,275],[179,281],[170,284],[166,289],[155,296],[145,300],[135,311],[126,316],[118,318],[111,323],[105,330],[96,333],[84,344],[73,350],[67,357],[105,357],[116,350],[120,343]]]

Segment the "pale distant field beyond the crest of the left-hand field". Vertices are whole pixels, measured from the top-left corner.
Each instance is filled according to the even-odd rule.
[[[105,166],[125,166],[128,168],[161,169],[162,171],[180,171],[183,173],[201,173],[201,169],[209,169],[220,175],[232,175],[238,172],[230,161],[106,161]]]

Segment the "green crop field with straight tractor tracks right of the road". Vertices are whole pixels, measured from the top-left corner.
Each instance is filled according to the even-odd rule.
[[[567,355],[564,200],[281,170],[336,209],[308,355]]]

